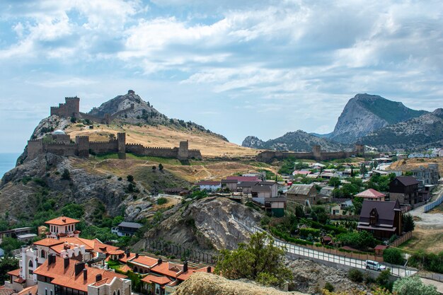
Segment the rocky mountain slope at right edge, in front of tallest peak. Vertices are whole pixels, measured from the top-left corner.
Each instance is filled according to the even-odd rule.
[[[359,142],[381,151],[423,151],[443,146],[443,109],[438,108],[420,117],[388,125],[362,137]]]

